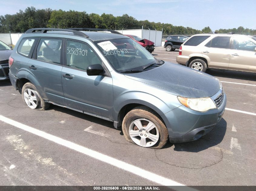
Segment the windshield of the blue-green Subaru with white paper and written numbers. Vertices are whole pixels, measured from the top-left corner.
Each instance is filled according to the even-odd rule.
[[[149,65],[163,64],[131,38],[95,42],[117,72],[142,72]]]

